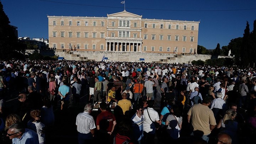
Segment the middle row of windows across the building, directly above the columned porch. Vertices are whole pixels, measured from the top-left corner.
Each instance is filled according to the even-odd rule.
[[[57,32],[53,32],[53,37],[56,37],[56,33]],[[72,37],[73,32],[68,32],[69,33],[69,37]],[[92,38],[96,38],[97,35],[96,32],[92,33]],[[104,38],[104,34],[105,33],[101,33],[101,38]],[[60,37],[64,37],[64,32],[60,32]],[[76,32],[76,37],[80,37],[80,32]],[[88,38],[88,32],[85,32],[84,35],[85,38]],[[115,37],[115,33],[111,33],[111,37]],[[118,32],[118,37],[130,37],[130,32],[129,31],[119,31]],[[187,41],[187,36],[182,36],[182,41]],[[133,34],[133,38],[137,38],[137,33]],[[144,39],[148,39],[148,34],[144,34]],[[152,40],[156,39],[156,35],[152,34]],[[159,40],[164,40],[164,35],[160,34],[159,35]],[[167,35],[167,41],[171,41],[171,35]],[[175,41],[179,41],[179,36],[175,36]],[[190,37],[190,41],[193,42],[194,41],[194,37],[191,36]]]

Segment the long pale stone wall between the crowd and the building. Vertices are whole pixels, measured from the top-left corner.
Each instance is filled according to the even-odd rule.
[[[145,62],[160,62],[160,63],[188,63],[192,60],[207,60],[212,55],[204,54],[171,54],[171,53],[144,53],[144,52],[105,52],[105,51],[66,51],[62,50],[41,50],[42,55],[58,55],[67,60],[95,60],[101,61],[103,55],[108,58],[107,61],[129,61],[140,62],[140,58],[144,58]],[[218,56],[218,58],[226,58],[228,56]],[[229,57],[231,58],[231,57]]]

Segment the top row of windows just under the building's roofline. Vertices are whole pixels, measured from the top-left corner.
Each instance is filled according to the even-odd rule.
[[[53,25],[56,25],[56,21],[53,21]],[[60,25],[64,26],[64,21],[60,21]],[[69,21],[69,26],[72,26],[72,21]],[[80,26],[80,21],[76,21],[76,26]],[[88,26],[88,21],[85,21],[84,26]],[[96,21],[93,21],[92,26],[96,26]],[[101,26],[104,26],[104,22],[101,21]],[[115,26],[115,22],[112,21],[112,26]],[[119,20],[119,27],[130,27],[129,20]],[[137,27],[137,22],[134,22],[134,27]],[[144,23],[144,28],[148,28],[148,23]],[[152,28],[156,28],[156,24],[152,24]],[[160,24],[159,28],[164,28],[164,24]],[[168,29],[171,29],[171,24],[168,25]],[[179,25],[176,25],[176,30],[179,30]],[[183,26],[183,30],[187,30],[187,26]],[[194,26],[191,26],[191,30],[194,30]]]

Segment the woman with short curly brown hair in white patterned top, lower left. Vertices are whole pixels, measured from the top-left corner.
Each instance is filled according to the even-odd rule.
[[[30,116],[33,120],[30,120],[27,124],[27,127],[38,134],[39,144],[44,144],[45,142],[45,133],[44,133],[44,124],[39,122],[41,115],[40,110],[32,110]]]

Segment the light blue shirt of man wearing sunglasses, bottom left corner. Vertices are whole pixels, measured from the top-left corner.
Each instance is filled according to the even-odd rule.
[[[12,139],[13,144],[39,144],[38,135],[31,129],[25,129],[21,138]]]

